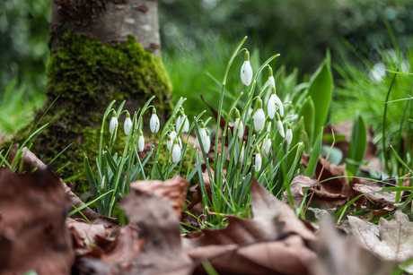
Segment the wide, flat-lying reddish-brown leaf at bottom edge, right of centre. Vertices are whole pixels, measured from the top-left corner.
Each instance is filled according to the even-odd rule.
[[[223,274],[309,274],[307,266],[315,258],[300,236],[278,241],[262,241],[244,245],[207,245],[189,250],[198,261],[206,259]],[[194,274],[206,274],[201,266]]]

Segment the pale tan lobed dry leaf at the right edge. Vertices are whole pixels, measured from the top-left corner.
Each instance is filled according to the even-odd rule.
[[[378,257],[399,263],[413,257],[413,225],[402,211],[397,210],[391,221],[380,219],[380,238],[373,234],[364,220],[348,216],[348,221],[359,244]],[[408,271],[412,272],[413,266]]]

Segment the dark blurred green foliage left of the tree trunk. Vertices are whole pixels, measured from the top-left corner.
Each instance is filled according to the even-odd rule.
[[[23,101],[44,100],[50,13],[48,0],[0,1],[0,91],[15,78]]]

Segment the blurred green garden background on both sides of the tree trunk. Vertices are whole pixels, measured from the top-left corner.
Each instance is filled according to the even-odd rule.
[[[3,134],[16,131],[30,117],[31,109],[44,102],[49,18],[50,0],[0,2],[0,127]],[[198,104],[199,94],[215,101],[220,90],[217,82],[222,80],[227,59],[245,35],[249,36],[245,46],[250,49],[255,70],[269,56],[280,53],[271,63],[274,71],[283,66],[286,75],[296,73],[299,81],[314,72],[325,58],[326,48],[330,48],[332,63],[337,68],[356,70],[357,77],[360,73],[365,75],[364,82],[336,81],[340,88],[337,107],[347,106],[346,94],[354,92],[357,84],[372,84],[367,92],[373,92],[376,81],[368,78],[369,70],[382,62],[383,51],[394,48],[385,20],[394,32],[400,55],[405,56],[408,64],[413,62],[408,58],[413,29],[413,1],[410,0],[159,1],[163,63],[170,73],[174,100],[180,97],[189,100],[186,104],[189,117],[205,108]],[[242,57],[233,64],[236,73],[229,75],[227,102],[245,89],[239,81],[241,64]],[[397,69],[398,64],[391,69]],[[337,80],[343,80],[343,73],[336,70],[333,73]],[[347,85],[348,82],[352,84]],[[354,100],[354,95],[349,99]],[[337,112],[337,115],[349,118],[348,112]],[[369,119],[368,124],[374,116]]]

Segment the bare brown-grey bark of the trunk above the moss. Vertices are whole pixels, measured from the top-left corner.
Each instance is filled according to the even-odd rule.
[[[157,0],[53,0],[51,26],[53,44],[71,28],[103,43],[126,42],[131,34],[160,54]]]

